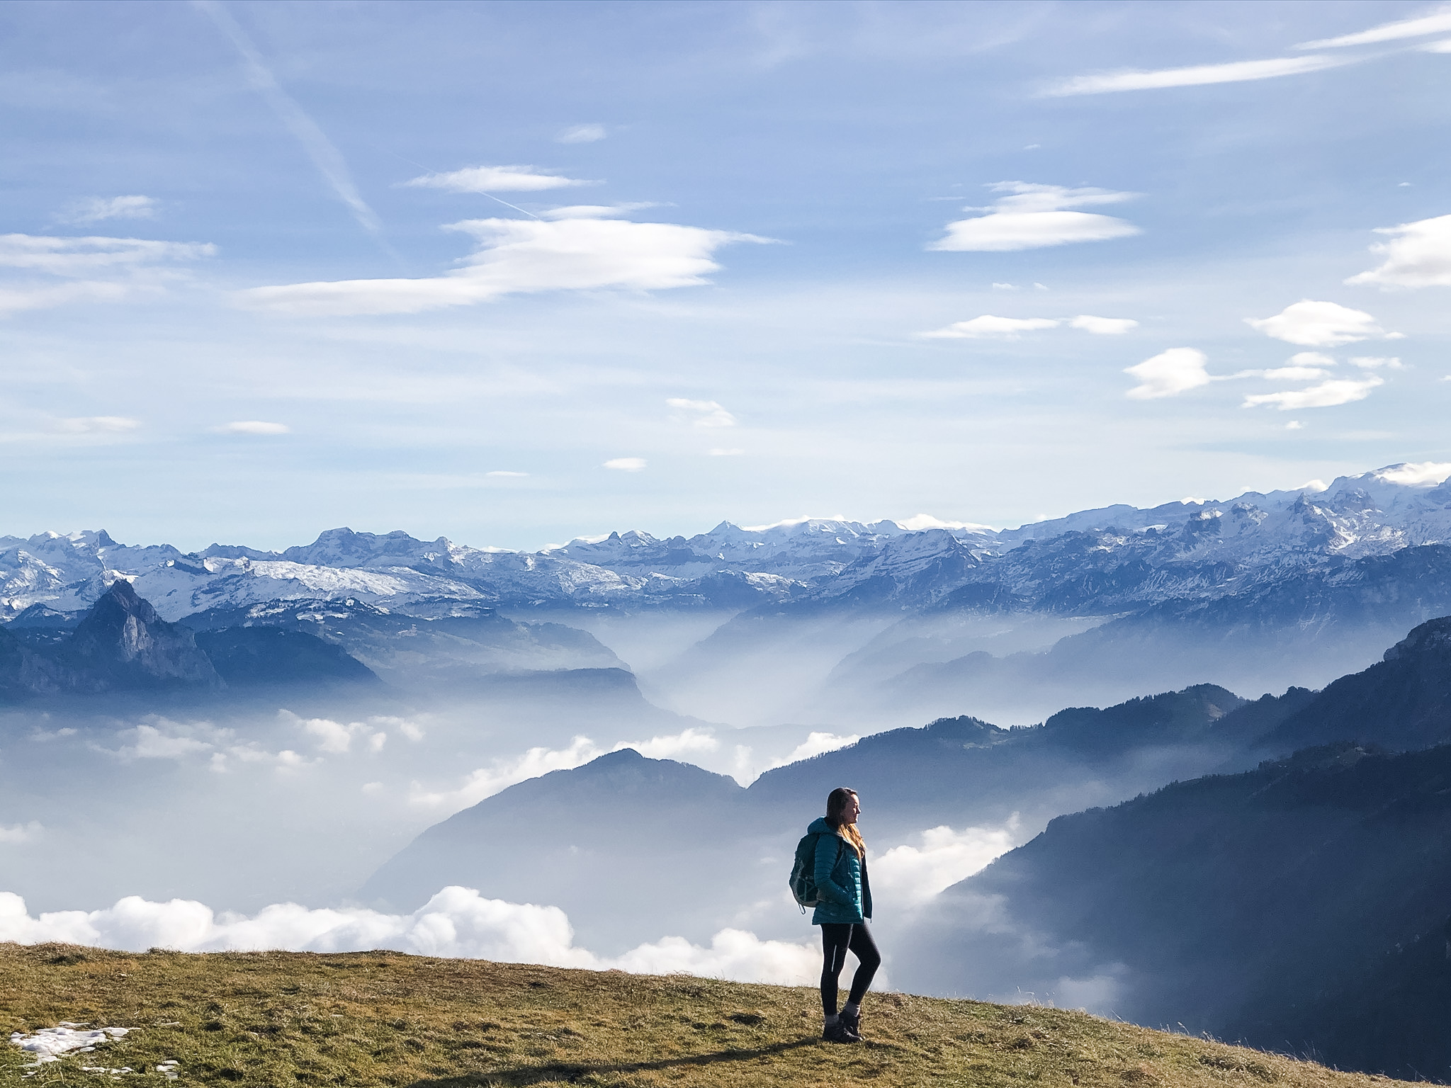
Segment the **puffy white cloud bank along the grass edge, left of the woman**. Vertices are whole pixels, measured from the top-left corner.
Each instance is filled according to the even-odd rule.
[[[640,944],[622,956],[596,956],[575,944],[557,907],[486,899],[472,888],[444,888],[412,914],[363,908],[309,910],[273,904],[252,917],[216,914],[194,899],[151,902],[136,895],[100,911],[52,911],[32,917],[25,899],[0,892],[0,941],[65,941],[139,952],[367,952],[544,963],[640,975],[683,972],[740,982],[804,985],[820,972],[814,947],[721,930],[710,946],[683,937]]]

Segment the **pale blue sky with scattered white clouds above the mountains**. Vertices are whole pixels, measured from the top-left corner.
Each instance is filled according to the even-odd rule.
[[[1451,461],[1451,7],[10,3],[0,55],[3,532]]]

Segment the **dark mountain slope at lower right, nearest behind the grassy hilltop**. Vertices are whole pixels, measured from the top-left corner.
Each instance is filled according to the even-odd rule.
[[[1046,998],[1097,979],[1138,1023],[1448,1079],[1448,910],[1451,747],[1338,743],[1053,820],[948,889],[894,972]],[[1435,1027],[1374,1027],[1402,1014]]]

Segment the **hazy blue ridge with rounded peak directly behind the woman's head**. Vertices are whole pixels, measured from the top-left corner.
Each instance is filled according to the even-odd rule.
[[[559,905],[582,940],[628,946],[682,930],[710,939],[741,924],[739,904],[781,899],[789,852],[836,786],[860,791],[881,849],[929,827],[1001,823],[1014,812],[1032,825],[1133,796],[1184,767],[1190,776],[1219,766],[1230,749],[1216,724],[1242,702],[1204,685],[1068,711],[1033,728],[946,718],[766,772],[749,789],[617,751],[511,786],[429,828],[360,898],[412,910],[461,883]]]

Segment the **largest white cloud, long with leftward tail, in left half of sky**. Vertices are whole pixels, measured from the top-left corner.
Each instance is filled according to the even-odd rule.
[[[765,238],[628,219],[467,219],[477,250],[463,268],[416,280],[340,280],[254,287],[239,300],[297,315],[419,313],[503,294],[551,290],[665,290],[707,283],[714,252]]]

